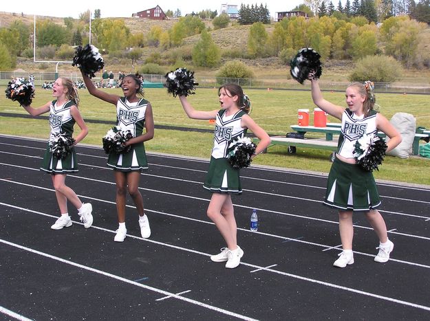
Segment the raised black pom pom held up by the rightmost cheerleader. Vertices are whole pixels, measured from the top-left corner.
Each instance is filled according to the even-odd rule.
[[[302,48],[290,61],[290,74],[292,78],[303,84],[312,74],[314,79],[318,79],[322,74],[320,54],[312,48]]]

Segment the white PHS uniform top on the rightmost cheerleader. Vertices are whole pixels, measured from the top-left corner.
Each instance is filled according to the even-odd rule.
[[[338,154],[345,158],[354,158],[355,143],[364,135],[375,135],[376,111],[371,111],[367,117],[358,117],[350,109],[342,114],[341,135],[338,142]]]

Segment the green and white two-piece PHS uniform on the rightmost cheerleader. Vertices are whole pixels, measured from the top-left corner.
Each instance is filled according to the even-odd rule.
[[[345,109],[337,153],[354,158],[358,138],[377,132],[376,111],[371,111],[367,117],[357,117],[350,109]],[[380,199],[372,172],[336,157],[330,168],[324,203],[339,210],[368,211],[377,208]]]

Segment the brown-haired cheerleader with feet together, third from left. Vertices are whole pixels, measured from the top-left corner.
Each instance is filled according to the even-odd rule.
[[[240,264],[244,251],[237,245],[237,225],[231,195],[240,195],[239,169],[233,168],[227,159],[227,148],[232,140],[244,137],[250,129],[260,140],[255,155],[270,144],[270,137],[248,115],[250,102],[239,85],[226,84],[218,89],[221,110],[197,111],[179,95],[180,102],[189,118],[215,120],[215,137],[206,181],[203,187],[212,192],[207,215],[221,233],[227,247],[221,253],[211,256],[214,262],[226,262],[226,268],[233,269]]]

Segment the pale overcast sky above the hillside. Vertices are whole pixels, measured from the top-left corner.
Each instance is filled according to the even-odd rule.
[[[184,16],[187,13],[199,12],[202,10],[212,10],[219,13],[222,3],[237,5],[240,8],[241,3],[245,5],[267,5],[270,16],[275,17],[275,12],[289,11],[297,5],[303,3],[303,0],[271,0],[271,1],[214,1],[201,0],[195,3],[194,1],[178,1],[178,0],[149,0],[149,1],[126,1],[126,5],[120,5],[121,1],[116,0],[72,0],[72,1],[46,1],[46,0],[19,0],[17,3],[10,0],[1,0],[0,12],[14,12],[17,14],[30,14],[41,16],[58,16],[72,17],[77,19],[79,14],[87,10],[94,12],[95,9],[100,9],[102,18],[108,17],[131,17],[131,14],[154,8],[160,5],[162,10],[172,10],[175,12],[179,9]]]

